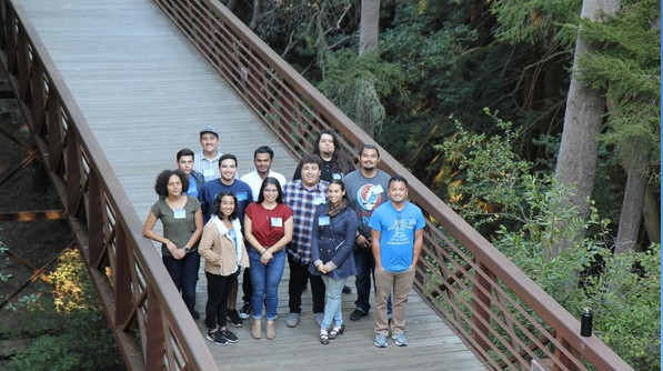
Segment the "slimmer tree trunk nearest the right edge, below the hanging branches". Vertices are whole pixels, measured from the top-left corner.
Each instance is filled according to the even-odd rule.
[[[623,162],[629,178],[614,245],[616,253],[631,251],[637,244],[646,189],[646,164],[649,163],[644,151],[639,151],[633,142],[629,151],[629,159]]]

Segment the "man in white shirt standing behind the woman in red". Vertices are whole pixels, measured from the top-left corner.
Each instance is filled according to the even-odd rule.
[[[274,159],[274,151],[269,146],[261,146],[253,151],[253,164],[255,170],[247,173],[240,178],[243,182],[251,187],[251,193],[253,193],[253,201],[258,201],[260,195],[260,187],[265,178],[275,178],[281,184],[281,189],[285,187],[285,177],[283,174],[272,171],[272,160]],[[242,278],[242,290],[244,294],[242,300],[244,304],[240,309],[240,318],[248,319],[251,314],[251,295],[253,294],[253,285],[251,284],[251,271],[250,268],[244,268],[244,275]]]

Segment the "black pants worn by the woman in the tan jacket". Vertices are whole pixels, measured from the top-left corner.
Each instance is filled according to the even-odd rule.
[[[204,308],[204,324],[208,329],[215,329],[217,325],[224,328],[228,323],[228,297],[230,289],[237,284],[238,275],[221,275],[204,272],[208,279],[208,303]]]

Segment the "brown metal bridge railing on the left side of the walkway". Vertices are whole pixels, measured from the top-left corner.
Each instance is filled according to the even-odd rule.
[[[19,1],[0,0],[0,59],[64,207],[124,363],[218,369],[198,325]]]

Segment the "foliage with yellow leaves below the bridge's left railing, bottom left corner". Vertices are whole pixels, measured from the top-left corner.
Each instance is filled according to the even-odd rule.
[[[10,370],[121,370],[106,317],[77,250],[66,251],[49,275],[53,298],[33,298],[17,308],[28,349],[14,355]]]

